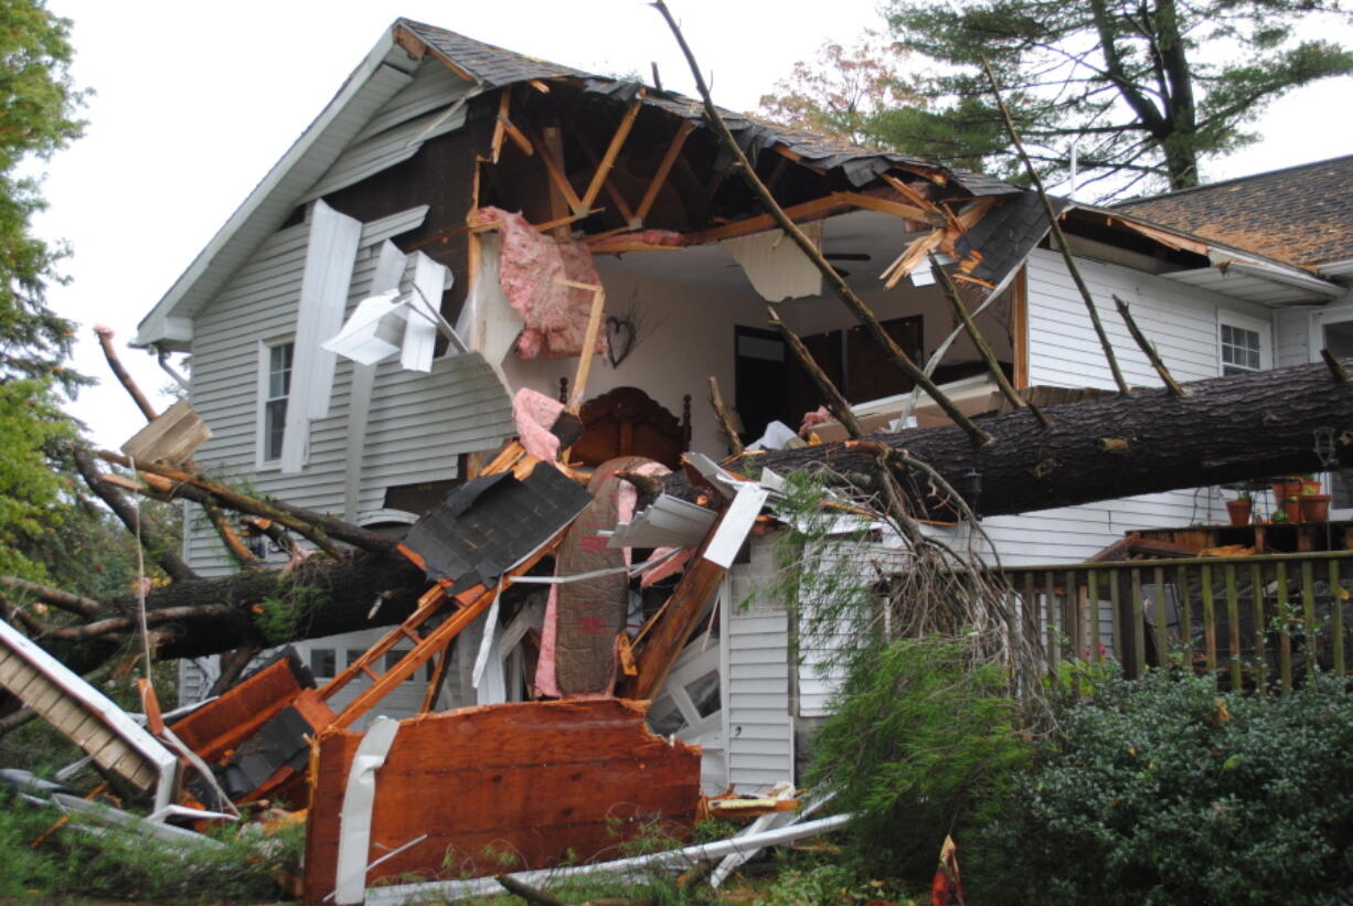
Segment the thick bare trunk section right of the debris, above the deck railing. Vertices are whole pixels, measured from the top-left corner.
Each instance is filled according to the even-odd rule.
[[[1215,377],[1185,389],[1187,396],[1142,388],[1050,406],[1046,429],[1027,411],[980,418],[993,438],[984,446],[957,427],[867,439],[905,449],[961,491],[976,472],[981,491],[969,503],[982,515],[1316,472],[1315,430],[1322,427],[1333,429],[1335,454],[1353,464],[1353,383],[1337,380],[1323,364]],[[847,441],[750,454],[732,468],[752,477],[763,467],[779,473],[828,467],[850,476],[867,475],[875,460],[873,445]],[[695,495],[681,473],[666,487]]]

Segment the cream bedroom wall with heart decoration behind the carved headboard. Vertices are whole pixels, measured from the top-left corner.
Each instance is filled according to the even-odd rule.
[[[679,419],[682,398],[690,394],[691,449],[708,456],[727,454],[708,402],[709,376],[718,379],[724,398],[732,400],[733,326],[764,327],[766,303],[750,288],[747,292],[695,289],[610,264],[597,258],[606,288],[606,312],[624,316],[632,311],[639,322],[639,339],[617,368],[602,356],[593,361],[586,396],[637,387]],[[551,398],[559,394],[559,379],[571,383],[578,371],[576,358],[522,360],[514,353],[502,365],[513,389],[530,387]]]

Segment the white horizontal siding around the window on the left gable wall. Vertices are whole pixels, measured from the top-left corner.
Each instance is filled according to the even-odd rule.
[[[421,212],[418,212],[421,216]],[[364,229],[348,297],[348,311],[367,293],[379,254],[377,238],[391,223],[413,223],[414,215],[386,218]],[[212,437],[198,452],[198,462],[227,479],[248,480],[254,491],[325,512],[344,512],[348,449],[348,394],[352,362],[334,372],[329,415],[310,423],[307,465],[295,475],[276,469],[256,472],[261,445],[258,398],[249,392],[258,373],[258,349],[295,330],[307,224],[269,238],[196,319],[192,404],[211,426]],[[413,277],[411,266],[405,281]],[[377,366],[364,439],[359,512],[379,510],[386,488],[456,477],[457,456],[497,448],[514,433],[507,394],[495,372],[476,354],[448,356],[429,373],[407,372],[398,361]],[[203,575],[233,569],[215,533],[202,519],[189,519],[185,553]]]

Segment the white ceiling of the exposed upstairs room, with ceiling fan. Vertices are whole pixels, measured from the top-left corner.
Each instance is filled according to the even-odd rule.
[[[907,233],[900,218],[878,211],[851,211],[821,223],[824,253],[869,256],[867,261],[832,262],[847,272],[846,281],[858,291],[877,289],[881,285],[878,275],[902,253],[908,242],[920,235]],[[702,289],[755,292],[741,266],[717,242],[655,252],[598,254],[597,268],[603,276],[607,272],[625,272]]]

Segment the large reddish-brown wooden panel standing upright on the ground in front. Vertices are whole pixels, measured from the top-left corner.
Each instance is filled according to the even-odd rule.
[[[645,703],[522,702],[402,721],[376,769],[367,878],[467,876],[590,861],[660,822],[682,836],[700,802],[700,749],[653,736]],[[334,890],[344,794],[361,733],[329,730],[311,756],[306,902]]]

